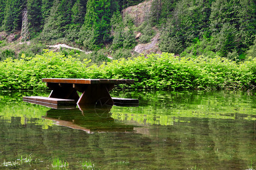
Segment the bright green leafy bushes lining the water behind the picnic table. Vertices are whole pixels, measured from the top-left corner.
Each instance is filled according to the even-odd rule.
[[[44,90],[42,78],[104,78],[134,79],[129,88],[144,90],[251,90],[256,85],[255,68],[255,58],[237,63],[218,56],[185,58],[169,53],[122,58],[98,66],[88,59],[80,61],[46,50],[35,57],[22,54],[20,59],[0,62],[0,89]]]

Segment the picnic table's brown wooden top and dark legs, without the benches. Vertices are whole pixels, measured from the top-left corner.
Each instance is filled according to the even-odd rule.
[[[115,84],[133,84],[130,79],[60,79],[43,78],[46,86],[52,90],[50,98],[75,100],[79,105],[83,104],[114,104],[109,91]],[[79,96],[77,91],[81,92]]]

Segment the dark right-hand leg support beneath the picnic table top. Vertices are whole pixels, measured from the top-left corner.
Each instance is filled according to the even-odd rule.
[[[88,88],[82,93],[77,104],[101,104],[113,105],[114,101],[109,94],[109,87],[104,84],[89,85]]]

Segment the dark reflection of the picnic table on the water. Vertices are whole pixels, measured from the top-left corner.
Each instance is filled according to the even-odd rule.
[[[112,106],[84,105],[75,109],[50,109],[42,118],[55,121],[56,125],[84,130],[87,133],[108,131],[133,131],[133,125],[115,122],[110,116]]]

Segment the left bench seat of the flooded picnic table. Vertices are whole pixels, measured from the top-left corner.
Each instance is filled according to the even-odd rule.
[[[50,103],[50,104],[62,104],[62,105],[69,105],[69,104],[76,104],[75,100],[70,99],[57,99],[52,97],[41,97],[41,96],[30,96],[30,97],[23,97],[23,100],[28,101],[39,101],[43,103]]]

